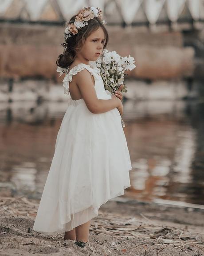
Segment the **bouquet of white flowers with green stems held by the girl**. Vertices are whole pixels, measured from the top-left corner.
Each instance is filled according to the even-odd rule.
[[[112,94],[119,89],[121,85],[124,85],[121,92],[127,92],[127,86],[123,84],[126,70],[132,70],[136,66],[133,64],[133,57],[121,57],[116,51],[109,52],[107,49],[104,54],[96,61],[95,65],[100,69],[101,77],[104,82],[106,93]],[[122,120],[122,127],[125,127],[125,123]]]

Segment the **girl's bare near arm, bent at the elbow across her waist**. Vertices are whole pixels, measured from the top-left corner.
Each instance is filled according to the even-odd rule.
[[[82,98],[90,112],[100,114],[117,108],[122,104],[121,100],[115,95],[108,100],[98,99],[94,89],[94,83],[88,70],[83,69],[78,72],[75,77],[76,84],[78,85]]]

